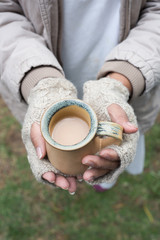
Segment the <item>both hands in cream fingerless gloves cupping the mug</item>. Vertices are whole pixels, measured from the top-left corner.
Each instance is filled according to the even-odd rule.
[[[50,164],[45,157],[45,142],[39,126],[43,112],[51,103],[77,98],[76,88],[67,79],[46,78],[31,90],[22,139],[37,181],[49,182],[72,194],[76,191],[77,180],[84,179],[93,185],[102,181],[113,181],[124,171],[134,158],[138,139],[136,117],[132,107],[127,103],[130,90],[128,83],[125,84],[125,81],[120,83],[113,78],[91,80],[84,84],[83,100],[93,108],[98,120],[120,124],[124,129],[124,135],[121,146],[103,149],[98,156],[85,156],[82,163],[91,168],[87,169],[83,176],[76,177],[64,177]]]

